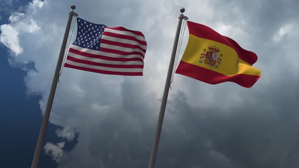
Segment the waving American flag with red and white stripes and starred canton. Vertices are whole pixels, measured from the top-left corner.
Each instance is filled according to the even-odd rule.
[[[143,75],[146,41],[140,31],[77,18],[77,37],[64,67],[103,74]]]

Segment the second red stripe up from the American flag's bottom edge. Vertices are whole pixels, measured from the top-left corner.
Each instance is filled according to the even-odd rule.
[[[98,63],[98,62],[93,62],[93,61],[88,61],[88,60],[81,60],[78,58],[73,58],[71,56],[67,56],[67,60],[73,61],[73,62],[78,62],[82,64],[87,64],[87,65],[95,65],[95,66],[103,66],[103,67],[110,67],[110,68],[143,68],[143,65],[114,65],[114,64],[104,64],[104,63]]]

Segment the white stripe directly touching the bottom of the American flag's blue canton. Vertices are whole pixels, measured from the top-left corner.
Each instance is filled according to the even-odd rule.
[[[140,58],[143,60],[143,57],[140,55],[119,55],[119,54],[114,54],[114,53],[107,53],[107,52],[102,52],[102,51],[96,51],[96,50],[91,50],[91,49],[85,49],[76,45],[71,45],[70,48],[82,51],[85,53],[90,53],[94,55],[101,55],[101,56],[106,56],[106,57],[113,57],[113,58]]]

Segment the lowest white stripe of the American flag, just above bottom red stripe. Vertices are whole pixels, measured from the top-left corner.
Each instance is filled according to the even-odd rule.
[[[114,71],[114,72],[142,72],[143,69],[141,68],[110,68],[110,67],[103,67],[103,66],[96,66],[96,65],[87,65],[82,64],[78,62],[73,62],[70,60],[65,60],[65,63],[79,66],[79,67],[85,67],[85,68],[92,68],[92,69],[99,69],[99,70],[105,70],[105,71]]]

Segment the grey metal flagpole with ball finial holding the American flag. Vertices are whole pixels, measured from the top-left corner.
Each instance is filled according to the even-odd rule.
[[[77,13],[73,12],[73,10],[76,9],[76,6],[71,5],[70,8],[71,8],[71,11],[69,12],[69,16],[68,16],[68,20],[67,20],[67,24],[66,24],[66,28],[65,28],[65,32],[64,32],[64,37],[63,37],[63,40],[62,40],[62,45],[61,45],[61,49],[60,49],[60,53],[59,53],[59,57],[58,57],[58,61],[57,61],[53,81],[52,81],[52,86],[51,86],[51,90],[50,90],[50,94],[49,94],[49,99],[48,99],[46,111],[45,111],[45,114],[44,114],[44,118],[43,118],[41,130],[40,130],[38,143],[36,144],[36,148],[35,148],[32,164],[31,164],[31,168],[37,168],[38,165],[39,165],[39,160],[40,160],[40,156],[41,156],[41,153],[42,153],[44,140],[45,140],[45,137],[46,137],[47,126],[48,126],[48,123],[49,123],[49,118],[50,118],[50,113],[51,113],[52,104],[53,104],[53,100],[54,100],[54,95],[55,95],[55,91],[56,91],[56,87],[57,87],[57,82],[58,82],[58,79],[59,79],[59,71],[61,69],[61,65],[62,65],[62,61],[63,61],[64,51],[65,51],[66,42],[67,42],[69,29],[70,29],[70,25],[71,25],[71,20],[72,20],[73,16],[78,16]]]

